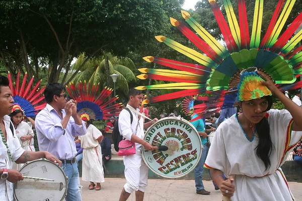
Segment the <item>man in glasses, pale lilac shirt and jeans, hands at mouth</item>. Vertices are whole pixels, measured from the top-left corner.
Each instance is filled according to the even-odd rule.
[[[62,161],[62,169],[68,176],[66,201],[81,201],[81,184],[72,136],[85,135],[87,130],[77,114],[77,102],[66,102],[65,87],[59,83],[47,84],[44,96],[46,107],[35,121],[39,149],[49,151]]]

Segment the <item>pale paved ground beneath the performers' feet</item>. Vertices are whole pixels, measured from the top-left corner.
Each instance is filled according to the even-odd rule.
[[[82,189],[83,201],[116,201],[119,199],[125,179],[105,178],[105,182],[101,183],[100,191],[88,190],[89,183],[81,181],[84,186]],[[149,179],[144,201],[221,201],[221,192],[214,190],[212,181],[203,181],[203,183],[205,189],[211,191],[210,195],[196,194],[194,180]],[[300,200],[298,197],[302,197],[302,183],[289,182],[289,187],[296,200]],[[135,193],[132,193],[128,200],[135,201]]]

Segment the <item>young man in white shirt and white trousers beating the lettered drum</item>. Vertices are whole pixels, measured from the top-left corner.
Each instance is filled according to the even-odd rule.
[[[133,191],[135,191],[135,200],[138,201],[143,200],[148,179],[148,167],[141,157],[141,145],[143,145],[146,150],[153,150],[153,147],[142,139],[144,135],[143,130],[151,126],[153,122],[150,121],[144,124],[143,118],[135,112],[132,112],[133,110],[139,112],[139,107],[143,99],[142,91],[131,88],[128,97],[129,102],[127,108],[129,108],[133,116],[132,124],[130,122],[130,113],[126,110],[122,110],[118,119],[118,127],[123,138],[135,142],[135,154],[123,156],[126,184],[121,192],[119,201],[127,200]],[[158,119],[155,118],[153,121],[158,121]]]

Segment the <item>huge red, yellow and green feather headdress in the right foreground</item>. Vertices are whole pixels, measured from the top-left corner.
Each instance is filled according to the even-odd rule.
[[[179,29],[199,50],[188,48],[165,36],[156,36],[156,39],[165,43],[176,51],[195,60],[197,63],[185,63],[161,57],[146,56],[147,62],[154,62],[175,70],[141,68],[140,79],[157,79],[173,81],[167,84],[138,86],[137,89],[181,89],[180,91],[149,98],[151,103],[162,100],[183,97],[202,93],[220,93],[223,103],[215,102],[203,107],[211,110],[218,107],[234,105],[236,91],[240,80],[240,72],[249,67],[256,67],[272,78],[279,89],[294,89],[301,86],[296,77],[302,74],[302,46],[295,46],[302,40],[302,30],[294,32],[302,23],[302,12],[281,33],[295,0],[279,0],[273,17],[261,39],[263,15],[263,0],[255,1],[253,28],[250,34],[245,0],[238,0],[238,17],[234,13],[230,0],[223,0],[226,11],[224,19],[215,0],[209,0],[218,27],[220,28],[226,47],[221,45],[211,34],[199,25],[189,13],[182,11],[182,16],[195,31],[191,31],[182,22],[170,18],[171,24]],[[283,7],[283,10],[282,10]],[[239,19],[239,22],[238,20]],[[197,34],[199,37],[197,36]],[[177,83],[176,83],[177,82]],[[290,84],[286,86],[286,84]],[[230,94],[228,98],[224,94]],[[231,103],[233,102],[233,103]],[[202,110],[203,110],[202,109]]]

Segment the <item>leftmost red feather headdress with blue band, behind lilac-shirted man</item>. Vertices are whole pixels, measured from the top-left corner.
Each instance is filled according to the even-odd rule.
[[[25,85],[26,85],[27,73],[25,73],[24,75],[21,86],[20,86],[21,83],[20,71],[18,71],[17,73],[15,87],[13,84],[12,75],[10,71],[8,72],[8,79],[9,79],[9,86],[12,90],[12,96],[15,102],[12,112],[16,110],[22,110],[25,116],[35,117],[40,110],[45,108],[46,102],[44,101],[45,99],[44,95],[42,95],[45,87],[43,87],[41,90],[39,90],[38,88],[42,80],[38,81],[38,83],[35,86],[33,86],[33,88],[31,89],[31,86],[34,81],[34,76],[29,80],[26,87]]]

